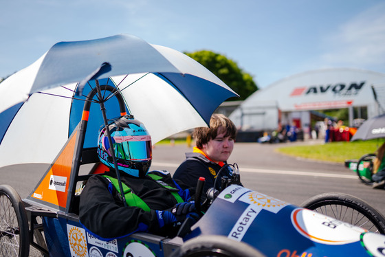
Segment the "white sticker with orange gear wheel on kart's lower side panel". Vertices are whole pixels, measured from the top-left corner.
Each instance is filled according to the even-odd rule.
[[[67,232],[71,256],[88,257],[85,230],[82,227],[67,224]]]

